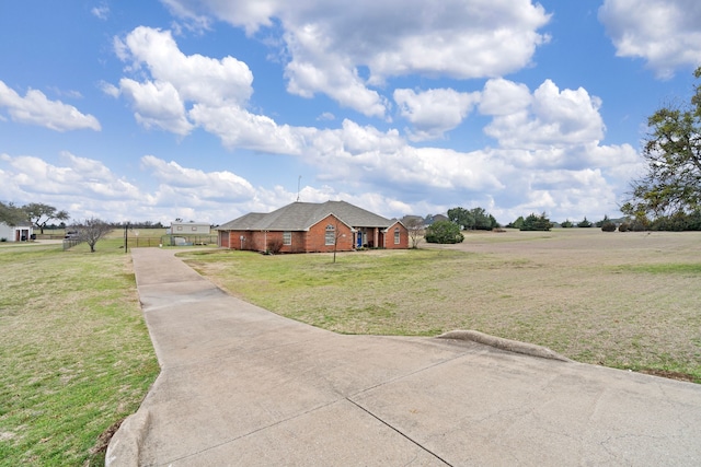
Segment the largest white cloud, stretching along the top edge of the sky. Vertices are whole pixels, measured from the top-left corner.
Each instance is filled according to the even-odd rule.
[[[367,116],[382,117],[387,101],[369,86],[409,74],[456,79],[503,75],[531,61],[548,42],[550,20],[530,0],[164,0],[192,21],[214,16],[254,34],[279,24],[288,91],[324,93]],[[363,77],[360,70],[367,69]]]

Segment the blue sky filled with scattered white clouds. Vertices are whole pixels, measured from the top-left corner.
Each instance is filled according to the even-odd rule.
[[[698,0],[3,1],[0,200],[616,218],[700,65]]]

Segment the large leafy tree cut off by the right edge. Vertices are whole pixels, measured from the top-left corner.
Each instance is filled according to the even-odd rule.
[[[701,78],[701,67],[694,71]],[[647,118],[643,148],[647,173],[631,183],[621,211],[641,218],[701,208],[701,84],[688,105],[667,105]]]

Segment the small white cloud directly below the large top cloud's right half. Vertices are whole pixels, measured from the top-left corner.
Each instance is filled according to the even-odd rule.
[[[460,93],[451,89],[394,90],[394,102],[400,114],[414,126],[410,139],[423,141],[443,138],[456,128],[480,100],[480,93]]]

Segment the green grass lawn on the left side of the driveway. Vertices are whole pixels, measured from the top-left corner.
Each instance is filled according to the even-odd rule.
[[[120,246],[0,247],[0,466],[103,465],[106,435],[156,380]]]

